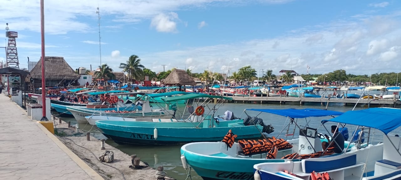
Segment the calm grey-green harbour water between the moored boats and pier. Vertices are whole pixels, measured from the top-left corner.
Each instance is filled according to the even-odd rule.
[[[184,107],[184,104],[179,106],[179,109],[182,109]],[[259,103],[236,103],[236,104],[224,104],[221,106],[217,112],[216,115],[223,115],[226,110],[230,110],[234,113],[234,116],[240,117],[240,118],[245,118],[245,114],[243,114],[244,109],[251,109],[251,108],[270,108],[270,109],[286,109],[286,108],[317,108],[317,109],[323,109],[326,106],[320,106],[320,104],[317,103],[305,103],[305,105],[299,105],[298,103],[287,103],[284,105],[280,104],[259,104]],[[342,106],[342,103],[331,103],[328,105],[328,110],[334,110],[334,111],[340,111],[340,112],[346,112],[348,110],[352,110],[354,106]],[[365,105],[358,105],[356,106],[355,110],[360,110],[360,109],[365,109],[367,106]],[[205,108],[206,110],[206,108]],[[208,110],[206,110],[208,112]],[[247,113],[251,116],[257,115],[257,112],[252,112],[252,111],[247,111]],[[184,114],[185,116],[186,114]],[[176,116],[178,118],[178,116]],[[273,127],[275,128],[275,131],[269,136],[277,136],[279,135],[280,131],[283,130],[284,126],[288,124],[288,119],[283,117],[283,116],[278,116],[278,115],[273,115],[273,114],[268,114],[268,113],[262,113],[258,116],[259,118],[263,119],[263,122],[265,124],[272,124]],[[75,119],[72,118],[65,118],[61,117],[64,121],[71,121],[72,123],[76,123]],[[324,134],[328,134],[326,130],[324,130],[323,126],[320,125],[320,120],[323,119],[330,119],[330,117],[325,117],[325,118],[306,118],[306,119],[298,119],[298,124],[299,125],[305,125],[306,120],[311,120],[309,123],[309,126],[312,128],[318,128],[319,132],[322,132]],[[330,128],[329,124],[326,125],[328,129]],[[335,124],[336,125],[336,124]],[[91,125],[89,124],[79,124],[79,127],[85,127],[85,130],[90,130],[92,128]],[[355,130],[356,127],[352,126],[346,126],[348,128],[349,133],[351,134],[353,130]],[[97,128],[93,128],[97,129]],[[93,130],[92,129],[92,130]],[[278,136],[279,138],[286,138],[284,136],[286,134],[287,128],[284,128],[285,130]],[[294,130],[294,125],[290,126],[289,129],[289,134],[292,133]],[[299,134],[299,130],[295,130],[295,137],[298,137],[297,135]],[[235,133],[235,132],[234,132]],[[297,134],[298,133],[298,134]],[[401,130],[397,129],[393,131],[393,134],[401,134]],[[352,136],[352,134],[350,135]],[[99,131],[95,133],[96,138],[105,138],[103,134],[101,134]],[[291,136],[292,137],[292,136]],[[222,137],[223,138],[223,137]],[[290,137],[289,137],[290,138]],[[350,137],[351,138],[351,137]],[[383,133],[376,131],[373,135],[373,140],[371,142],[377,143],[383,141]],[[112,140],[107,140],[107,144],[110,144],[111,146],[114,146],[115,148],[118,148],[122,152],[126,154],[137,154],[138,157],[141,158],[141,161],[147,162],[150,166],[152,167],[157,167],[157,166],[164,166],[164,170],[168,173],[169,176],[172,176],[173,178],[176,178],[177,180],[185,180],[186,178],[186,170],[182,168],[182,163],[180,160],[180,148],[181,145],[176,145],[176,146],[140,146],[140,145],[118,145],[115,144]],[[128,166],[129,164],[127,164]],[[202,178],[200,176],[196,175],[196,172],[192,171],[191,172],[192,179],[198,179],[201,180]]]

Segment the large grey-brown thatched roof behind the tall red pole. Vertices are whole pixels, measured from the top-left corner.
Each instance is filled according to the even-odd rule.
[[[42,58],[41,58],[42,59]],[[42,60],[30,71],[34,79],[42,78]],[[75,80],[79,75],[65,62],[63,57],[45,56],[46,80]]]

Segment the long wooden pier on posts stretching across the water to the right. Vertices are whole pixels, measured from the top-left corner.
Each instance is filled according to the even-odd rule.
[[[316,102],[322,105],[326,103],[343,103],[344,106],[348,104],[389,104],[396,105],[401,104],[400,100],[392,100],[392,99],[351,99],[351,98],[296,98],[296,97],[241,97],[241,96],[230,96],[233,98],[231,102],[260,102],[260,103],[269,103],[269,102],[279,102],[280,104],[286,104],[286,102],[299,102],[300,104],[304,104],[305,102]]]

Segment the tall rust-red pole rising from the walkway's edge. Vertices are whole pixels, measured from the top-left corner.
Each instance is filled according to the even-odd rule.
[[[46,80],[45,80],[45,10],[41,0],[41,41],[42,41],[42,114],[41,121],[48,121],[46,118]]]

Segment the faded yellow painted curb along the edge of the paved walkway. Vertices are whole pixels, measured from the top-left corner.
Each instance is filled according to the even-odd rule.
[[[18,104],[16,104],[14,102],[14,104],[23,112],[26,112],[22,107],[20,107]],[[53,125],[52,121],[51,124]],[[90,178],[92,178],[93,180],[104,180],[100,174],[98,174],[95,170],[93,170],[88,164],[86,164],[81,158],[79,158],[77,156],[77,154],[73,153],[67,146],[65,146],[65,144],[63,142],[61,142],[59,140],[59,138],[57,138],[54,134],[49,133],[49,130],[47,130],[47,128],[45,128],[45,126],[42,126],[42,124],[40,123],[36,123],[36,125],[41,128],[41,130],[51,139],[53,140],[53,142],[55,144],[57,144],[57,146],[59,146],[59,148],[61,150],[63,150],[65,152],[65,154],[67,154],[71,160],[73,160],[83,171],[86,172],[86,174],[88,174],[88,176]],[[54,129],[53,129],[53,133],[54,133]]]

